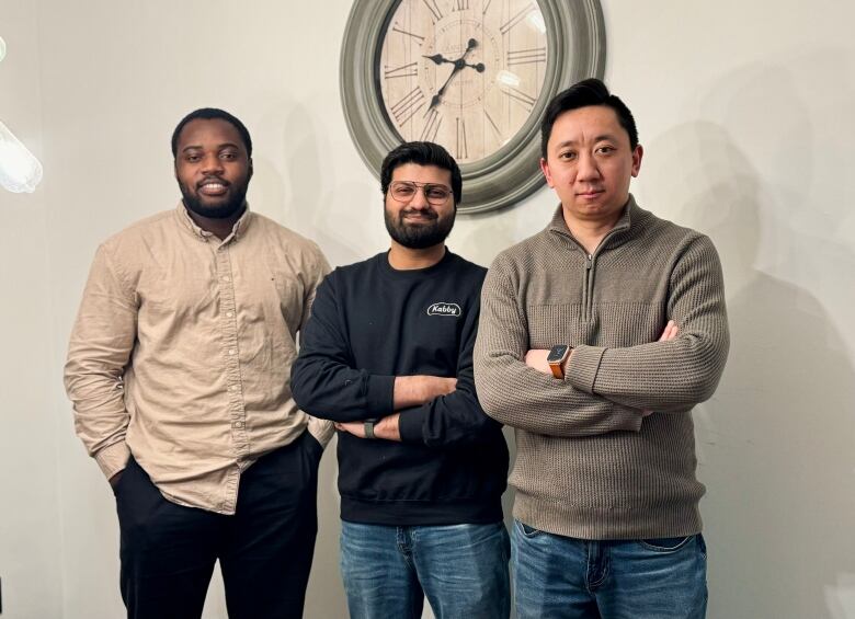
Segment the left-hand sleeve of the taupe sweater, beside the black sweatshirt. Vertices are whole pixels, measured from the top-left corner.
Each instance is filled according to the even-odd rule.
[[[502,256],[487,273],[475,345],[475,383],[485,412],[500,423],[549,436],[638,432],[641,410],[556,380],[522,360],[528,326]]]

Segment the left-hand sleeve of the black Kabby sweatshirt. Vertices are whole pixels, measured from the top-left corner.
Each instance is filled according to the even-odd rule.
[[[300,336],[290,375],[294,400],[310,415],[335,422],[389,415],[395,377],[354,369],[342,320],[333,272],[318,287],[311,318]]]

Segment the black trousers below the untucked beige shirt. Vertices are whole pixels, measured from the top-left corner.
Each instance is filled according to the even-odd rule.
[[[217,559],[230,619],[303,617],[321,454],[306,432],[260,458],[233,516],[167,501],[132,458],[114,489],[128,618],[197,619]]]

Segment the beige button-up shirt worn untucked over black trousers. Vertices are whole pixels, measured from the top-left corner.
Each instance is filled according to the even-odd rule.
[[[107,478],[133,454],[170,501],[233,514],[240,474],[308,426],[290,394],[296,335],[329,272],[318,247],[249,209],[220,241],[183,204],[95,254],[65,383]]]

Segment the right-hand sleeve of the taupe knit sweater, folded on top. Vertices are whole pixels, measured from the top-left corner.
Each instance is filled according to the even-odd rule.
[[[676,256],[668,317],[677,336],[625,348],[579,346],[568,367],[570,385],[656,412],[684,412],[713,396],[730,346],[721,264],[704,236],[688,238]]]

